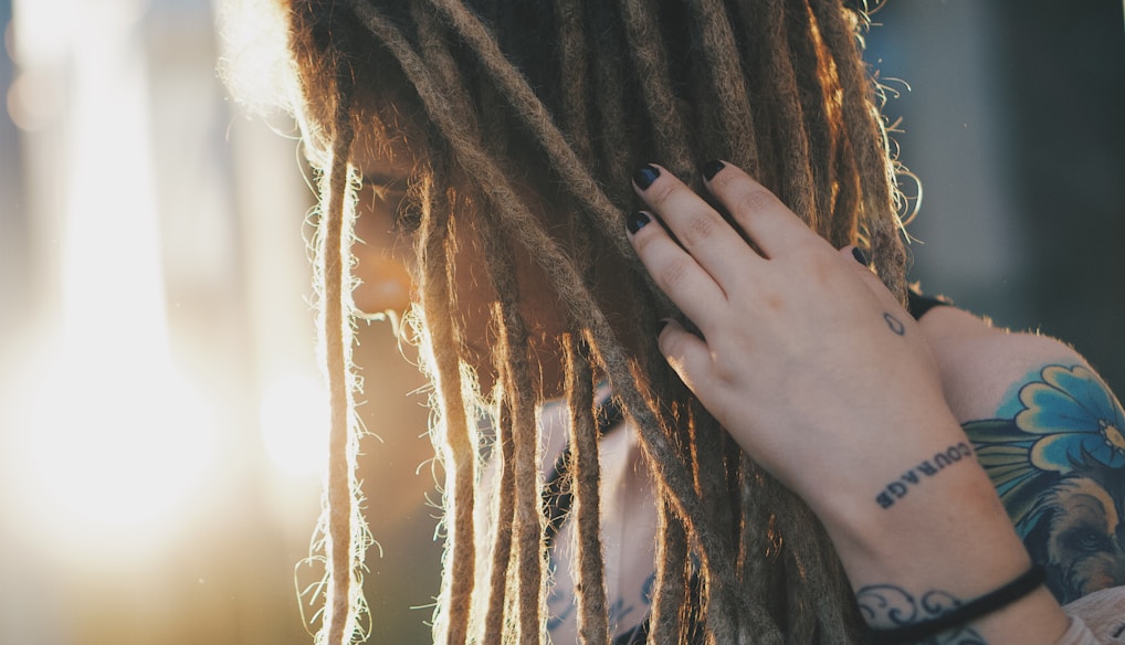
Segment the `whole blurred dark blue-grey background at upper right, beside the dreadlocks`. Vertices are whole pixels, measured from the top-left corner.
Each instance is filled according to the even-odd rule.
[[[921,179],[911,278],[1040,330],[1125,390],[1125,36],[1118,0],[891,0],[867,58]]]

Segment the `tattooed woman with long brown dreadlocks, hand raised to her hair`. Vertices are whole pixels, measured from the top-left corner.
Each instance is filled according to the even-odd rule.
[[[863,13],[469,4],[285,3],[323,171],[320,641],[361,607],[359,205],[435,385],[438,642],[1092,642],[1059,602],[1125,582],[1120,406],[1058,342],[902,308]],[[361,309],[394,305],[376,264]]]

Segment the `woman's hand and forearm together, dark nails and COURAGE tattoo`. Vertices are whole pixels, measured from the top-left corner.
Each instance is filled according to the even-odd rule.
[[[669,321],[660,351],[820,517],[865,617],[901,625],[926,616],[894,599],[960,602],[1019,576],[1029,560],[914,319],[854,248],[832,248],[744,172],[712,162],[704,175],[734,226],[667,171],[634,175],[650,211],[630,216],[630,240],[699,328]],[[972,629],[1053,643],[1065,625],[1041,588]]]

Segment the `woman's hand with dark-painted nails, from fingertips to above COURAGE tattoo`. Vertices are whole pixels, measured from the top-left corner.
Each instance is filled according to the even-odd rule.
[[[667,171],[638,173],[664,226],[637,214],[630,239],[700,330],[670,321],[660,349],[742,449],[816,510],[878,509],[903,469],[965,440],[929,348],[853,248],[832,248],[737,167],[710,170],[708,188],[753,247]]]

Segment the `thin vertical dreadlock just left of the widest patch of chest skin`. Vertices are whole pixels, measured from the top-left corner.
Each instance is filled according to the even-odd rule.
[[[584,645],[610,641],[609,602],[602,563],[601,466],[597,424],[594,423],[594,378],[590,357],[578,334],[562,338],[566,365],[566,401],[569,408],[570,457],[576,528],[575,597],[578,605],[578,638]]]

